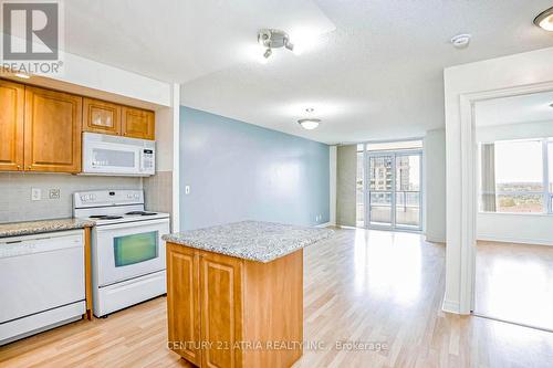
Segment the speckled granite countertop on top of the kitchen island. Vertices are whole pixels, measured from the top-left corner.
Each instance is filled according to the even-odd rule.
[[[328,229],[242,221],[164,235],[167,242],[268,263],[331,236]]]

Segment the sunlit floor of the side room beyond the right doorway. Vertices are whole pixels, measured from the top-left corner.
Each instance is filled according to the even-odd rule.
[[[553,330],[553,248],[479,242],[474,313]]]

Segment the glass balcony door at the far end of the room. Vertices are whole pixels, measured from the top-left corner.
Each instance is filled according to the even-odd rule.
[[[420,150],[367,151],[367,228],[421,230]]]

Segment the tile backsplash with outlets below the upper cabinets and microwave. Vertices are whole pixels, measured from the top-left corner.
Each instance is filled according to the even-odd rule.
[[[41,190],[41,200],[31,200],[32,188]],[[0,223],[72,217],[75,191],[142,188],[143,179],[132,177],[1,172]]]

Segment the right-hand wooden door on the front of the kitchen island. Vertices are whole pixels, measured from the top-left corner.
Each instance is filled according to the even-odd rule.
[[[242,261],[200,251],[202,367],[242,367]]]

